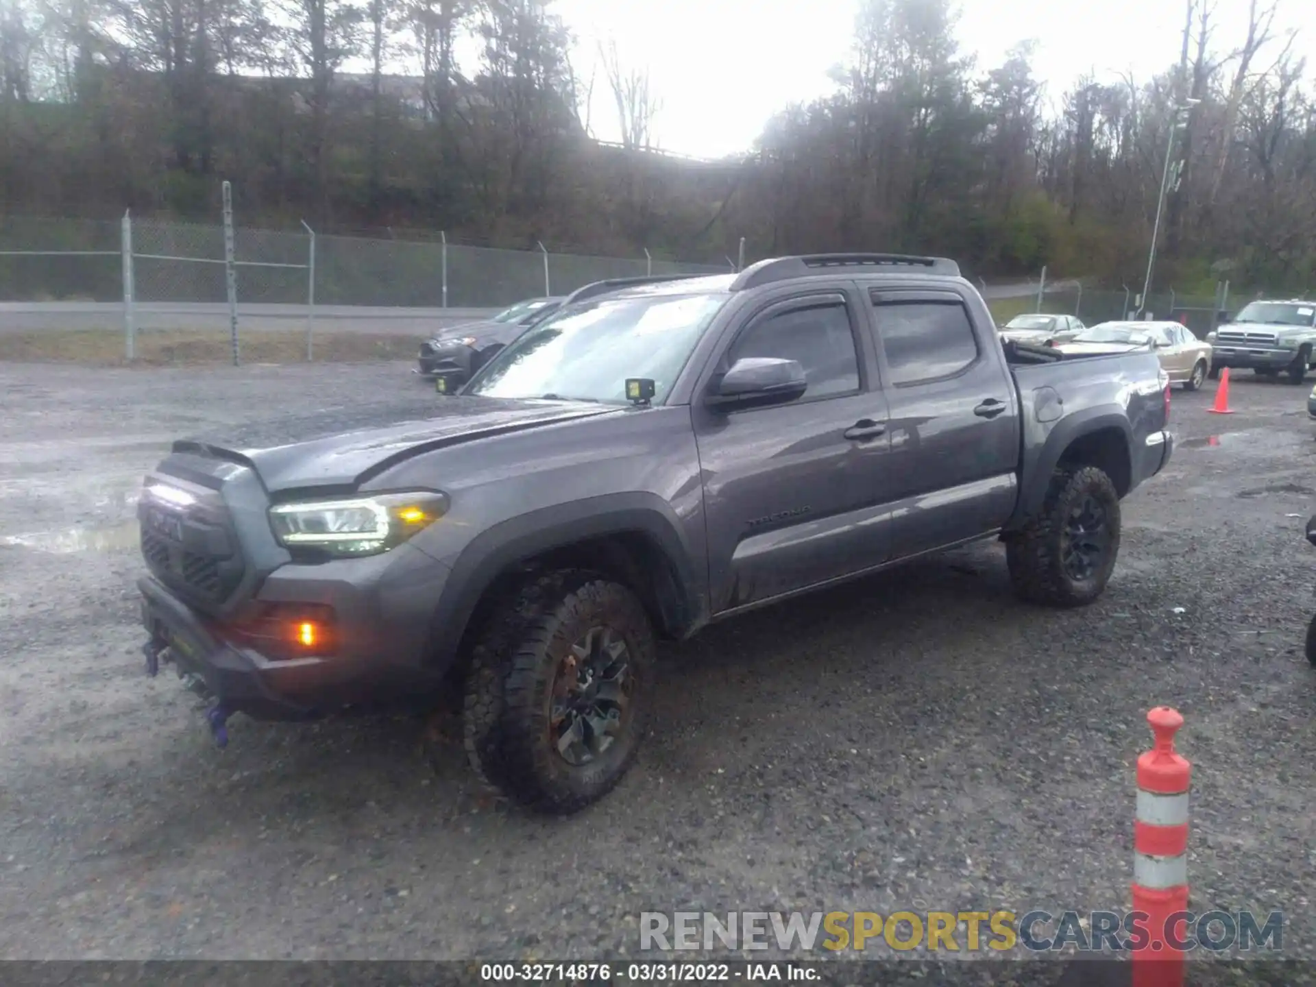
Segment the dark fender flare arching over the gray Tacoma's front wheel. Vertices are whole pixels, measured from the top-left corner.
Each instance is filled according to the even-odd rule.
[[[663,613],[678,636],[707,619],[708,579],[700,576],[682,525],[654,494],[608,494],[530,511],[478,534],[453,563],[430,624],[430,662],[446,669],[484,592],[500,574],[553,549],[609,534],[640,534],[666,557],[674,605]]]

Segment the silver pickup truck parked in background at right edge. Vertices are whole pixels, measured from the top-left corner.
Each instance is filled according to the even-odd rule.
[[[1249,301],[1232,322],[1207,333],[1207,341],[1215,347],[1212,376],[1221,367],[1250,367],[1259,376],[1283,372],[1300,384],[1316,350],[1316,301]]]

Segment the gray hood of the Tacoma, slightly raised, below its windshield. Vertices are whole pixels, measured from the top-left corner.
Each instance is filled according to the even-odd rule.
[[[240,426],[224,436],[180,440],[174,451],[250,466],[271,494],[354,488],[434,449],[621,411],[579,401],[471,396],[341,405]]]

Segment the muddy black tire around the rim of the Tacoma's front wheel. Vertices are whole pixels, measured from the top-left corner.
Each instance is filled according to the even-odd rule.
[[[626,644],[634,676],[629,721],[595,761],[572,766],[549,736],[549,690],[559,661],[591,625]],[[471,653],[463,736],[472,769],[512,800],[546,813],[576,812],[629,770],[647,724],[654,636],[644,605],[619,583],[586,571],[542,575],[496,608]]]

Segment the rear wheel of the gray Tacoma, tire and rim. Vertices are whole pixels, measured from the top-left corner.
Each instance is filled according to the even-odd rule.
[[[1096,600],[1119,551],[1120,496],[1095,466],[1057,468],[1037,515],[1005,541],[1015,594],[1050,607]]]

